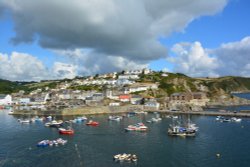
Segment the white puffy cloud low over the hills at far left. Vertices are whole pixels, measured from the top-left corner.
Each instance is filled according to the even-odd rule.
[[[73,65],[55,62],[48,69],[38,58],[18,52],[10,55],[0,53],[0,71],[0,78],[12,81],[40,81],[76,76],[76,67]]]

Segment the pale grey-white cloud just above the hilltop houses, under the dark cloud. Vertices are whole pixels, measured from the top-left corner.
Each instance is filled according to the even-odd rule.
[[[122,56],[101,55],[92,50],[55,50],[55,52],[70,57],[71,63],[78,67],[78,75],[93,75],[148,67],[147,61],[132,61]]]

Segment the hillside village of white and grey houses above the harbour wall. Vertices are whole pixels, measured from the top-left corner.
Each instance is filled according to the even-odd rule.
[[[154,91],[159,83],[138,82],[140,75],[149,75],[150,69],[123,71],[74,79],[58,83],[56,88],[36,89],[29,94],[21,90],[9,95],[0,95],[0,105],[12,106],[15,111],[53,111],[107,106],[137,108],[140,110],[191,110],[201,111],[209,99],[205,92],[176,92],[157,98],[146,91]],[[168,77],[168,73],[162,73]],[[82,90],[81,86],[92,88]],[[79,88],[79,89],[78,89]],[[95,89],[93,89],[95,88]],[[101,88],[101,89],[100,89]],[[70,113],[69,113],[70,114]]]

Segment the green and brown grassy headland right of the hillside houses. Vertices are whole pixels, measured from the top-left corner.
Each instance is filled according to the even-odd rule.
[[[249,92],[250,78],[220,77],[220,78],[191,78],[181,73],[155,72],[142,75],[141,82],[158,82],[160,91],[168,95],[175,92],[207,92],[209,97],[230,94],[231,92]]]

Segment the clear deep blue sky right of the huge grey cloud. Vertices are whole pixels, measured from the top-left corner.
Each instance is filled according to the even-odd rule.
[[[239,41],[250,35],[250,22],[246,19],[250,17],[249,7],[250,1],[231,0],[223,11],[197,18],[183,32],[174,32],[160,41],[167,48],[179,42],[195,41],[200,41],[206,48],[218,48],[223,43]],[[160,59],[151,62],[150,67],[156,70],[165,67],[173,69],[173,64]]]

